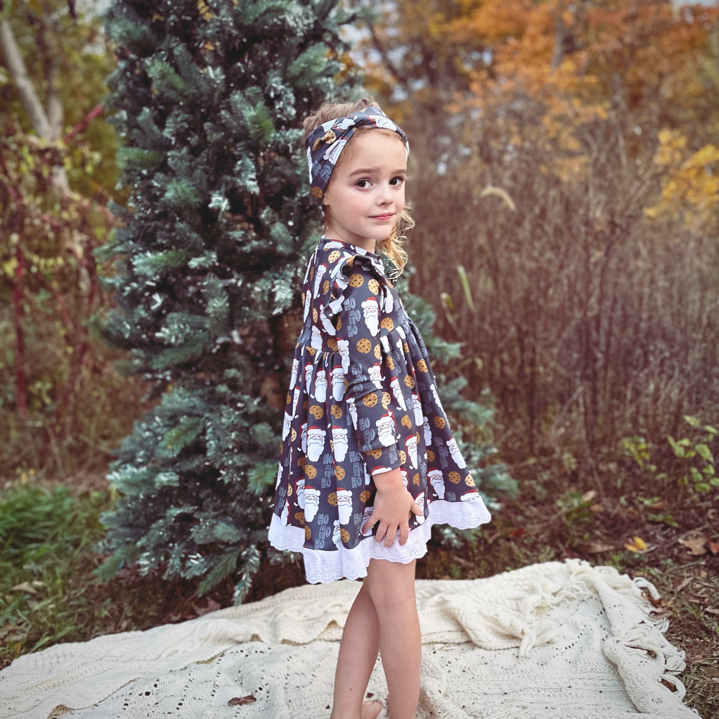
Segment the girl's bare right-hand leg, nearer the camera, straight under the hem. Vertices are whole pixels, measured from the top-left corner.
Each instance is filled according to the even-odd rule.
[[[414,592],[416,561],[370,559],[367,586],[380,627],[380,654],[389,690],[390,719],[415,719],[422,645]]]

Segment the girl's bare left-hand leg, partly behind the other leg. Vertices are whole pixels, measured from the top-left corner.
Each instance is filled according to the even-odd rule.
[[[331,719],[371,719],[380,713],[379,704],[368,702],[362,707],[379,649],[380,624],[365,578],[342,631]]]

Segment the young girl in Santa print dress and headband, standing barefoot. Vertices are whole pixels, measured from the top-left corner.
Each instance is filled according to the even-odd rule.
[[[382,655],[391,719],[416,716],[421,640],[415,563],[434,523],[490,521],[452,436],[422,338],[385,275],[409,145],[372,99],[324,104],[305,123],[325,234],[304,278],[304,326],[285,406],[269,539],[301,551],[309,582],[363,577],[339,647],[331,719],[363,702]]]

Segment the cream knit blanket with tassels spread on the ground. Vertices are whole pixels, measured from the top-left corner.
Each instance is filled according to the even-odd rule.
[[[0,717],[329,717],[359,582],[306,585],[147,631],[59,644],[0,672]],[[421,719],[696,719],[651,583],[579,559],[417,580]],[[672,688],[661,680],[664,679]],[[386,696],[381,660],[369,691]],[[228,705],[234,697],[255,702]],[[381,716],[386,716],[383,709]]]

